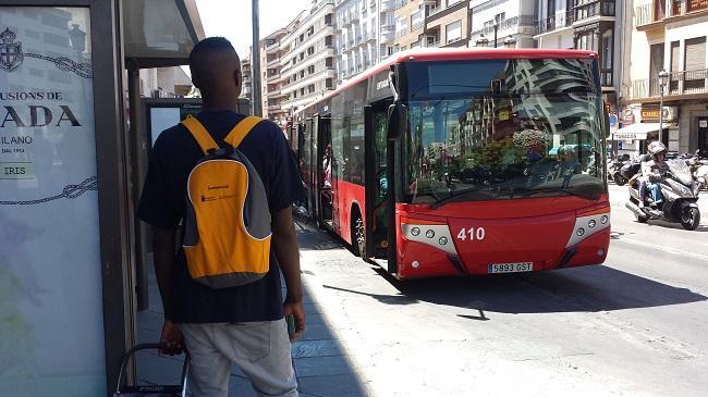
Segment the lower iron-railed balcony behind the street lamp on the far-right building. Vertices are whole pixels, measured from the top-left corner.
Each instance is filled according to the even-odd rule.
[[[664,98],[708,94],[708,70],[669,73],[669,84],[664,88]],[[659,98],[661,86],[659,78],[632,80],[632,99]]]

